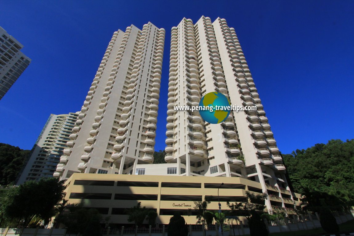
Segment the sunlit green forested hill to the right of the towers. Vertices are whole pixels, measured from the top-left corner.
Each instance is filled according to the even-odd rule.
[[[354,139],[330,140],[282,156],[295,192],[326,192],[354,204]]]

